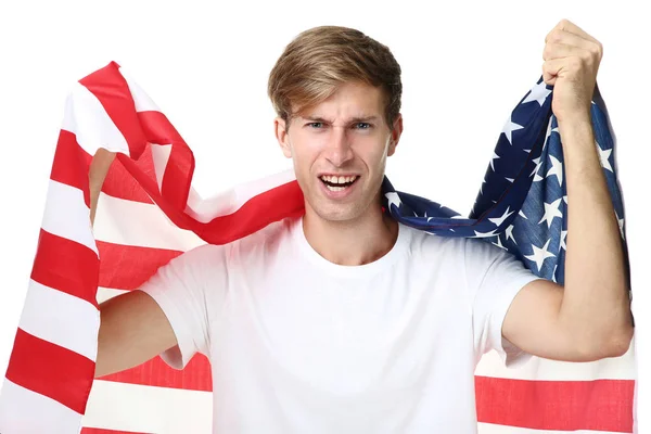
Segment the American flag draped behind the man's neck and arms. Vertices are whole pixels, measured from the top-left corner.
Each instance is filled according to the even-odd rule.
[[[384,208],[433,235],[481,238],[537,276],[563,283],[571,204],[551,92],[539,79],[509,116],[469,217],[396,191],[386,177]],[[626,251],[614,140],[598,91],[591,115]],[[100,148],[117,157],[92,228],[88,174]],[[229,243],[304,213],[293,171],[202,200],[191,188],[193,170],[190,148],[116,63],[75,85],[0,393],[2,434],[210,432],[212,379],[204,356],[182,371],[156,357],[93,381],[99,303],[138,288],[190,248]],[[480,432],[631,433],[633,347],[587,363],[534,357],[516,369],[487,354],[475,372]]]

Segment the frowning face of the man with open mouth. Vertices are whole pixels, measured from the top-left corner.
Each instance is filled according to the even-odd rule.
[[[326,220],[361,217],[380,206],[386,157],[393,155],[403,130],[401,117],[392,131],[384,118],[379,88],[342,85],[322,103],[290,122],[276,119],[276,133],[306,199],[306,213]]]

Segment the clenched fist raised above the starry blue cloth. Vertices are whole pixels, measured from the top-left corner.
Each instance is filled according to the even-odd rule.
[[[601,42],[567,20],[545,38],[542,79],[553,86],[551,110],[559,124],[589,119],[602,55]]]

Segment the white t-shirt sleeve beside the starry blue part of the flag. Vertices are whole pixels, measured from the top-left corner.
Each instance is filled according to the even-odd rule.
[[[465,281],[472,303],[477,359],[495,349],[507,367],[521,365],[531,355],[502,337],[502,324],[518,292],[541,278],[496,245],[476,239],[465,241]]]

